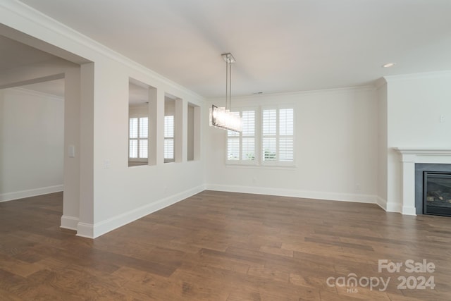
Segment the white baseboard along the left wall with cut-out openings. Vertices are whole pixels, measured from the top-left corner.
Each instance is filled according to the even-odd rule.
[[[152,204],[147,204],[137,209],[119,214],[118,216],[113,216],[111,219],[100,221],[99,223],[95,223],[94,225],[88,223],[78,223],[77,236],[84,238],[98,238],[100,235],[104,235],[105,233],[113,231],[114,229],[131,223],[132,221],[141,219],[143,216],[147,216],[154,213],[155,211],[159,211],[165,207],[171,206],[172,204],[180,202],[183,199],[191,197],[192,195],[196,195],[197,193],[204,190],[204,185],[200,185],[196,188],[171,195],[170,197],[159,199],[156,202],[152,202]]]

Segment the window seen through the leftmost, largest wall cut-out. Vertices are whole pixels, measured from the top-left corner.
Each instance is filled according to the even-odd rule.
[[[129,119],[129,150],[130,159],[147,159],[149,118],[135,117]]]

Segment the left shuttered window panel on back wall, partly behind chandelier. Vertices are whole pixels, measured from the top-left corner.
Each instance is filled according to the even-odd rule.
[[[229,161],[255,160],[255,111],[235,112],[242,117],[242,133],[228,130],[227,159]]]

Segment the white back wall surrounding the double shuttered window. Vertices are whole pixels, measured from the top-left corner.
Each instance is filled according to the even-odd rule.
[[[223,100],[210,103],[214,102],[221,105]],[[206,127],[207,189],[376,202],[378,104],[375,89],[233,99],[233,108],[267,104],[295,104],[296,167],[226,166],[226,131]]]

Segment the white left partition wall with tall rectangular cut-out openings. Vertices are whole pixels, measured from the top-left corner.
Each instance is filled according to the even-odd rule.
[[[94,216],[92,228],[85,225],[79,234],[96,237],[204,190],[204,166],[202,161],[188,163],[186,156],[180,162],[163,163],[164,95],[177,95],[185,106],[188,101],[202,106],[200,97],[106,57],[94,65]],[[157,90],[153,166],[128,167],[129,78]],[[183,123],[186,128],[187,118]],[[186,147],[185,143],[185,153]]]

